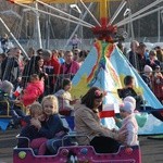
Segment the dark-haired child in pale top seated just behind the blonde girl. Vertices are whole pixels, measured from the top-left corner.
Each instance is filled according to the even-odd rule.
[[[59,99],[59,112],[64,114],[67,111],[67,114],[71,114],[74,110],[72,104],[75,104],[76,99],[72,100],[70,90],[72,89],[72,82],[68,78],[64,78],[62,83],[62,88],[57,91],[54,95]]]

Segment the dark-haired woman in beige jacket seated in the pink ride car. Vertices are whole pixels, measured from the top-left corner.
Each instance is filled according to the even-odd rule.
[[[75,105],[75,128],[78,135],[79,145],[90,145],[98,153],[112,153],[118,150],[116,141],[121,137],[112,133],[100,123],[99,106],[102,104],[104,93],[97,87],[91,87],[82,98],[79,104]]]

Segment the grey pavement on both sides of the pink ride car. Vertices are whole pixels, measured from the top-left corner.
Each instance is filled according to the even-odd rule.
[[[0,130],[0,163],[12,163],[12,151],[17,141],[20,129]],[[139,136],[142,163],[163,163],[163,140]]]

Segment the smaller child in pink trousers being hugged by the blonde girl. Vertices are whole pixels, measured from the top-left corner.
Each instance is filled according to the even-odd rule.
[[[41,137],[39,130],[30,123],[35,120],[38,120],[37,126],[41,127],[41,122],[43,122],[46,118],[42,112],[42,106],[39,102],[35,102],[30,105],[29,118],[30,121],[28,122],[28,124],[22,128],[20,137],[28,138],[30,140],[29,147],[32,147],[35,150],[38,149],[38,155],[43,155],[47,149],[46,148],[47,138]],[[18,147],[28,147],[26,139],[20,138]]]

